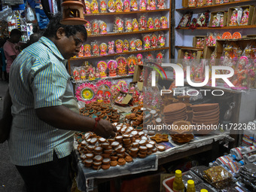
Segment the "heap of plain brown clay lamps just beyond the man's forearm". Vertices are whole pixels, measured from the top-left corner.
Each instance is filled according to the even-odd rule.
[[[85,104],[84,108],[80,110],[81,114],[87,117],[100,117],[108,120],[111,123],[119,122],[120,114],[117,109],[105,104],[104,102],[92,102]]]

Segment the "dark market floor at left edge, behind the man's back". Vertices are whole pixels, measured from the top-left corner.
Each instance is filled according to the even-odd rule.
[[[3,101],[7,89],[8,83],[0,81],[0,117],[2,117]],[[22,192],[23,184],[23,179],[11,163],[7,142],[0,144],[0,191]]]

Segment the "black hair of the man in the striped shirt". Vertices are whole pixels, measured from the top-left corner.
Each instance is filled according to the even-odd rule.
[[[47,29],[45,29],[43,36],[47,38],[53,38],[56,35],[57,30],[62,27],[65,29],[66,36],[69,37],[71,35],[76,34],[77,32],[81,32],[81,34],[84,34],[84,39],[87,39],[87,30],[85,29],[84,25],[78,25],[78,26],[67,26],[62,25],[60,22],[62,20],[62,14],[58,13],[55,16],[52,17],[50,22],[47,25]]]

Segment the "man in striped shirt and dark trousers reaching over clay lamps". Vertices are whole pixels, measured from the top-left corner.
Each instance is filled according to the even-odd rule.
[[[87,32],[84,26],[62,25],[61,19],[60,14],[53,17],[43,37],[14,60],[9,84],[11,102],[7,97],[1,120],[5,126],[11,123],[11,162],[29,192],[70,190],[69,164],[75,130],[93,130],[105,138],[117,131],[107,120],[79,114],[66,59],[78,54]]]

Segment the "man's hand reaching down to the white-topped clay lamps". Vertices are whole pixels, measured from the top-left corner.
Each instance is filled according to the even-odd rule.
[[[98,136],[102,136],[106,139],[114,137],[117,132],[117,128],[112,125],[108,120],[99,120],[94,132]]]

